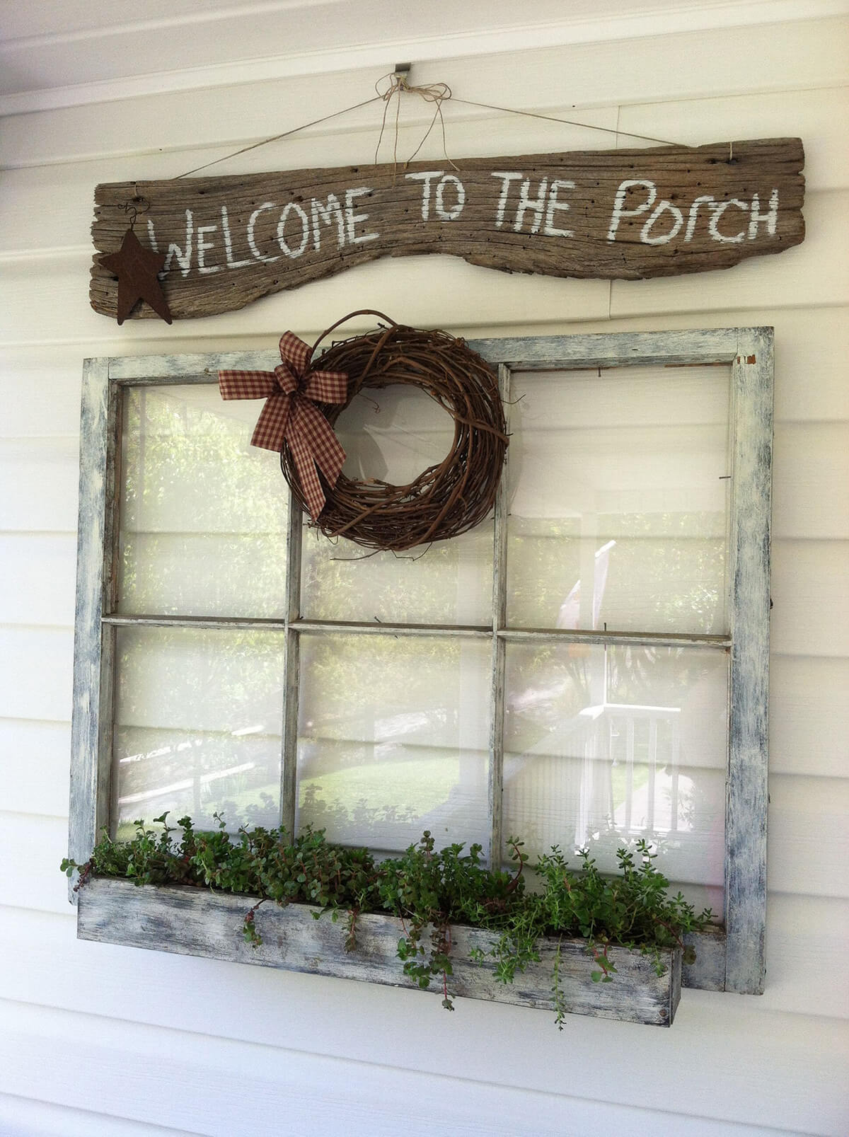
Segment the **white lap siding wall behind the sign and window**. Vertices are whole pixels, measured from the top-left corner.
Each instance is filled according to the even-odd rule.
[[[384,68],[385,69],[385,68]],[[806,242],[651,282],[384,260],[243,313],[123,327],[88,304],[99,181],[157,179],[368,96],[381,69],[184,91],[0,123],[0,1132],[763,1135],[849,1131],[849,25],[647,38],[422,65],[417,82],[700,143],[799,134]],[[249,70],[245,78],[249,78]],[[409,111],[413,116],[413,111]],[[225,172],[366,164],[377,110]],[[418,141],[405,133],[399,152]],[[448,107],[450,152],[610,136]],[[632,144],[619,138],[619,144]],[[428,141],[424,156],[439,160]],[[684,993],[650,1031],[75,939],[66,849],[86,356],[270,349],[343,313],[463,334],[773,324],[776,437],[767,987]]]

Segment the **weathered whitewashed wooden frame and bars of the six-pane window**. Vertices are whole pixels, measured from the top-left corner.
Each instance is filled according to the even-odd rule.
[[[300,617],[301,515],[290,498],[286,533],[288,612],[280,620],[117,614],[117,533],[123,393],[127,387],[215,383],[219,370],[270,370],[269,352],[124,356],[88,359],[81,415],[80,526],[74,641],[69,856],[82,863],[109,820],[113,678],[120,625],[264,628],[285,633],[285,712],[281,820],[296,808],[298,655],[301,631],[468,634],[492,645],[489,807],[491,848],[501,847],[503,672],[510,640],[584,644],[701,645],[730,655],[729,762],[723,926],[694,937],[697,962],[684,982],[709,990],[759,994],[765,974],[767,695],[769,637],[769,520],[772,484],[773,330],[601,333],[488,339],[469,345],[498,368],[502,397],[514,372],[627,366],[725,364],[731,367],[731,525],[729,633],[633,633],[510,630],[506,622],[507,478],[496,503],[492,625],[455,626],[325,623]],[[509,460],[509,457],[508,457]],[[74,894],[72,894],[74,899]],[[151,907],[152,903],[152,907]],[[208,919],[223,919],[213,899]],[[198,904],[195,901],[194,910]],[[165,920],[172,906],[163,901]],[[216,912],[218,913],[216,915]],[[156,916],[156,903],[145,913]],[[110,936],[108,912],[99,938]],[[169,921],[173,926],[173,921]],[[197,949],[194,933],[177,927],[170,951]],[[182,938],[181,938],[182,937]],[[150,946],[156,946],[151,940]],[[210,953],[205,953],[210,954]]]

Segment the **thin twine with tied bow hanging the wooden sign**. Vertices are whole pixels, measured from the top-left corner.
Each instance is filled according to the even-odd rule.
[[[383,93],[381,93],[380,84],[384,82],[386,78],[390,80],[390,85]],[[393,167],[397,169],[398,134],[400,130],[400,106],[401,106],[401,96],[403,94],[415,94],[424,99],[425,102],[432,102],[434,105],[433,118],[431,119],[431,124],[425,131],[422,141],[418,143],[416,149],[409,156],[405,165],[409,165],[409,163],[413,161],[413,159],[416,157],[418,151],[422,149],[422,147],[430,138],[431,132],[433,131],[433,127],[436,125],[436,121],[439,119],[442,127],[442,152],[446,156],[446,161],[448,161],[453,169],[458,168],[457,165],[448,157],[448,149],[446,144],[446,121],[442,115],[442,103],[448,102],[449,100],[451,102],[456,102],[459,106],[464,107],[478,107],[482,110],[497,110],[503,115],[522,115],[524,118],[541,118],[543,122],[547,123],[560,123],[564,126],[577,126],[581,130],[586,130],[586,131],[601,131],[605,134],[615,134],[617,138],[619,135],[624,135],[624,138],[639,139],[642,142],[657,142],[660,146],[684,146],[683,142],[669,142],[668,139],[656,139],[652,138],[650,134],[634,134],[633,131],[623,131],[618,127],[597,126],[593,123],[577,123],[571,118],[559,118],[556,115],[542,115],[535,110],[518,110],[516,107],[499,107],[491,102],[476,102],[473,99],[458,99],[457,96],[453,94],[453,92],[451,91],[451,88],[448,85],[448,83],[426,83],[422,85],[411,85],[410,83],[407,82],[403,75],[397,72],[389,72],[386,75],[382,76],[382,78],[377,80],[377,83],[375,83],[375,91],[377,93],[373,96],[371,99],[364,99],[363,102],[355,102],[353,106],[351,107],[343,107],[341,110],[334,110],[332,114],[324,115],[322,118],[314,118],[309,123],[302,123],[300,126],[293,126],[292,130],[290,131],[283,131],[281,134],[273,134],[270,138],[261,139],[259,142],[252,142],[250,146],[241,147],[239,150],[233,150],[231,153],[225,153],[222,158],[214,158],[213,161],[207,161],[202,166],[195,166],[193,169],[186,169],[185,173],[183,174],[177,174],[174,181],[177,181],[181,177],[190,177],[192,174],[199,174],[203,169],[209,169],[210,166],[217,166],[222,161],[228,161],[231,158],[236,158],[241,153],[248,153],[250,150],[258,150],[260,147],[269,146],[272,142],[280,142],[283,139],[291,138],[293,134],[299,134],[301,131],[309,130],[310,126],[321,126],[322,123],[328,123],[333,118],[339,118],[342,115],[348,115],[353,110],[359,110],[360,107],[368,107],[373,102],[383,102],[384,107],[383,107],[383,119],[381,123],[381,133],[380,138],[377,139],[377,147],[375,148],[374,152],[374,160],[376,165],[377,152],[381,148],[381,142],[383,141],[383,135],[385,132],[386,117],[389,115],[390,102],[396,96],[398,98],[398,101],[396,103],[396,132],[394,132],[396,136],[393,147]],[[730,161],[733,160],[733,150],[730,153],[729,160]]]

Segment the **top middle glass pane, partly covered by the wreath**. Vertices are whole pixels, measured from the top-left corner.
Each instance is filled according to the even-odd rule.
[[[378,407],[378,409],[377,409]],[[450,415],[422,391],[365,391],[340,417],[349,478],[405,485],[439,465],[453,441]],[[307,530],[301,607],[314,620],[489,624],[492,522],[408,553],[374,553]]]

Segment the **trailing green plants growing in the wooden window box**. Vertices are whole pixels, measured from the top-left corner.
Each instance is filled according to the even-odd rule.
[[[135,823],[131,841],[114,841],[103,832],[91,858],[83,865],[68,860],[61,869],[68,877],[80,873],[76,888],[92,874],[124,877],[138,885],[194,885],[256,897],[245,913],[244,937],[260,944],[257,908],[265,901],[277,904],[311,904],[316,919],[331,912],[344,914],[346,948],[356,947],[357,918],[361,912],[399,916],[405,935],[398,944],[403,972],[427,987],[442,985],[442,1005],[452,1010],[448,978],[452,973],[451,927],[467,924],[496,932],[489,953],[496,978],[513,982],[516,972],[538,962],[542,936],[581,937],[593,960],[594,982],[610,982],[616,968],[610,945],[635,948],[648,955],[663,974],[663,951],[682,945],[682,937],[704,929],[710,910],[697,915],[681,893],[669,896],[668,880],[655,866],[655,854],[646,841],[635,852],[621,848],[619,872],[599,872],[589,850],[579,854],[577,869],[569,869],[555,846],[531,866],[522,841],[509,840],[513,871],[488,869],[482,847],[449,845],[441,852],[425,832],[399,857],[382,862],[365,848],[349,848],[326,840],[323,830],[307,828],[298,837],[284,829],[240,829],[232,837],[224,819],[218,829],[195,831],[189,818],[177,828],[164,813],[157,830]],[[535,873],[527,885],[526,869]],[[481,949],[472,953],[483,963]],[[686,958],[686,954],[685,954]],[[559,949],[555,957],[552,999],[558,1026],[566,1011],[559,980]]]

